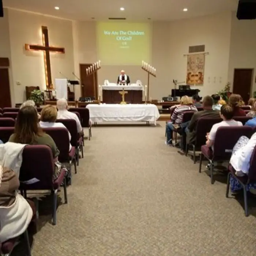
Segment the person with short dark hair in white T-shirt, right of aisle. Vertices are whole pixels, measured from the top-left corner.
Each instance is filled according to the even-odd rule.
[[[219,113],[223,121],[220,123],[212,125],[210,133],[207,134],[206,138],[206,145],[211,147],[214,144],[216,132],[220,127],[227,127],[227,126],[243,126],[243,124],[239,121],[235,121],[234,117],[234,110],[229,105],[223,105],[221,107],[221,112]]]

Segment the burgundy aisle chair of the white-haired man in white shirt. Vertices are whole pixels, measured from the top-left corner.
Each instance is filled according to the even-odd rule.
[[[76,148],[76,160],[77,165],[79,165],[79,150],[81,150],[83,158],[83,138],[77,132],[76,121],[74,119],[57,119],[56,123],[62,123],[67,127],[71,135],[70,144]]]

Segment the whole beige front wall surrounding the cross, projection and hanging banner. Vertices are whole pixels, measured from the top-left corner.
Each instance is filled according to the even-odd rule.
[[[174,88],[172,80],[185,81],[190,45],[206,45],[204,86],[198,87],[204,96],[221,90],[226,82],[233,82],[234,68],[256,68],[255,21],[238,21],[235,14],[225,12],[217,15],[152,22],[152,65],[157,78],[151,78],[150,96],[161,99]],[[65,54],[51,54],[52,78],[60,78],[59,72],[70,79],[74,71],[80,76],[79,63],[98,60],[95,22],[80,22],[36,15],[17,10],[5,11],[0,20],[4,31],[0,38],[0,56],[10,57],[10,81],[12,104],[25,99],[25,86],[45,89],[43,54],[27,52],[26,43],[42,44],[41,26],[48,26],[50,44],[65,48]],[[114,54],[114,53],[113,53]],[[120,69],[125,69],[132,82],[142,80],[147,84],[146,72],[138,66],[105,66],[98,71],[98,82],[105,79],[115,82]],[[20,82],[21,85],[17,85]],[[253,83],[253,90],[256,84]],[[196,87],[197,88],[197,87]],[[76,98],[81,95],[76,87]]]

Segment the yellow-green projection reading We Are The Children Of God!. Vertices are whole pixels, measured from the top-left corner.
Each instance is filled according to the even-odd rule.
[[[141,65],[151,60],[151,24],[97,22],[98,57],[104,65]]]

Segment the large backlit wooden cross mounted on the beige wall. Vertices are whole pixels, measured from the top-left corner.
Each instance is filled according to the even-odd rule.
[[[51,64],[50,64],[50,52],[55,53],[65,53],[65,48],[53,47],[49,45],[49,36],[48,36],[48,28],[42,26],[42,41],[43,45],[31,45],[25,44],[26,50],[33,51],[43,51],[44,52],[44,65],[45,65],[45,82],[46,88],[52,88],[52,72],[51,72]]]

